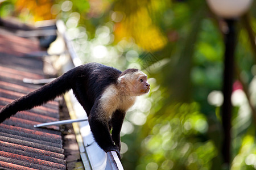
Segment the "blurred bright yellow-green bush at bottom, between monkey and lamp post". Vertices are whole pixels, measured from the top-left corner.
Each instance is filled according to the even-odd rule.
[[[166,112],[148,117],[137,169],[152,169],[149,163],[157,163],[158,169],[210,169],[217,151],[212,141],[201,137],[208,124],[199,105],[172,104]]]

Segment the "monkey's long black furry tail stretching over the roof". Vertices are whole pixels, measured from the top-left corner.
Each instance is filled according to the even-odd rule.
[[[25,111],[42,105],[70,90],[72,87],[71,82],[74,77],[73,72],[75,72],[75,69],[68,71],[50,83],[45,84],[38,90],[7,104],[0,110],[0,123],[13,116],[16,112]]]

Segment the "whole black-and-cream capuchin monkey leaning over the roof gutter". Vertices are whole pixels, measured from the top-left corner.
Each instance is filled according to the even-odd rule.
[[[0,123],[16,112],[42,105],[71,89],[88,115],[98,146],[105,152],[117,152],[120,158],[120,131],[126,111],[136,96],[150,90],[147,75],[138,69],[122,72],[100,63],[86,63],[7,104],[0,111]]]

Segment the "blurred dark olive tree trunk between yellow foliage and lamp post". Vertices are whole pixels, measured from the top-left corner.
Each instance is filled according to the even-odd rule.
[[[183,48],[179,54],[179,59],[175,63],[174,72],[172,73],[172,83],[170,84],[172,95],[176,101],[191,101],[191,68],[192,57],[195,52],[195,44],[201,30],[201,21],[204,19],[205,7],[201,6],[196,11],[191,23],[191,29],[187,33]],[[168,80],[169,82],[169,80]]]

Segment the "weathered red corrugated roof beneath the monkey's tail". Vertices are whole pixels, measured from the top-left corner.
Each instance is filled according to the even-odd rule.
[[[40,50],[39,42],[6,34],[0,28],[0,108],[38,88],[23,78],[44,78],[42,59],[24,57]],[[66,169],[59,127],[33,125],[59,120],[59,104],[51,101],[18,112],[0,124],[0,169]]]

